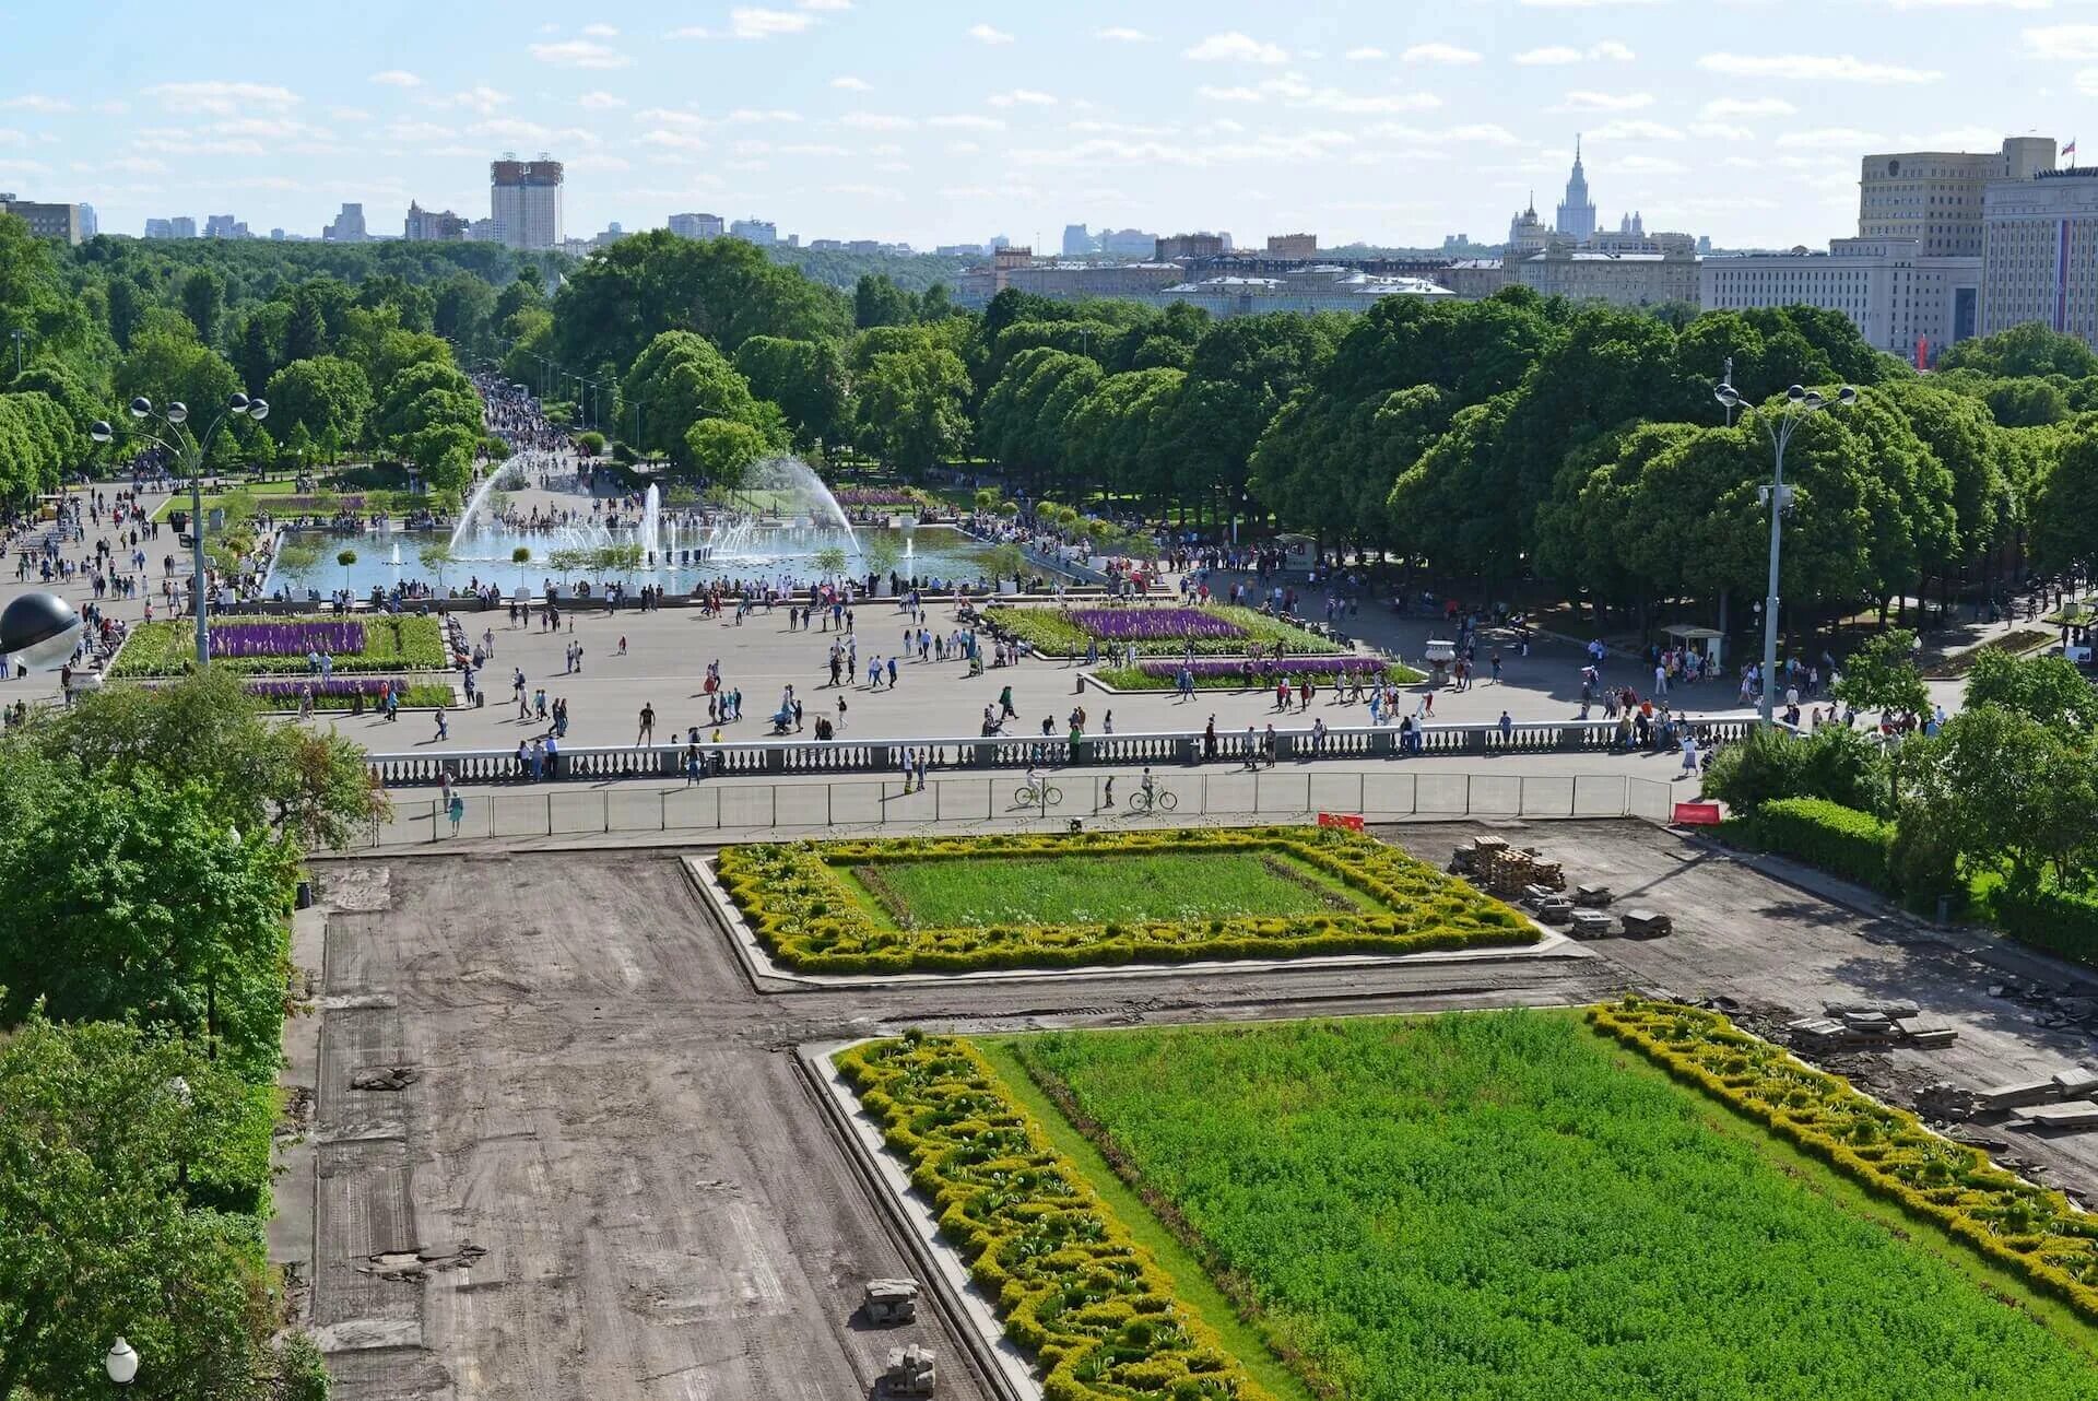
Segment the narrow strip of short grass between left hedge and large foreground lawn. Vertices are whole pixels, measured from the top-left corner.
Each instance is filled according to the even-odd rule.
[[[1303,1378],[1290,1372],[1267,1346],[1267,1338],[1259,1325],[1242,1319],[1232,1300],[1223,1296],[1223,1290],[1211,1281],[1208,1271],[1202,1269],[1202,1260],[1173,1231],[1160,1225],[1152,1208],[1108,1166],[1099,1147],[1072,1128],[1064,1112],[1055,1107],[1055,1101],[1043,1093],[1043,1086],[1034,1082],[1028,1068],[1013,1055],[1013,1040],[1011,1036],[969,1038],[969,1044],[982,1051],[984,1059],[999,1072],[1005,1091],[1034,1118],[1049,1145],[1085,1172],[1085,1181],[1108,1204],[1108,1210],[1122,1229],[1152,1252],[1158,1267],[1173,1279],[1173,1294],[1181,1305],[1208,1323],[1253,1380],[1276,1393],[1278,1401],[1315,1401]]]

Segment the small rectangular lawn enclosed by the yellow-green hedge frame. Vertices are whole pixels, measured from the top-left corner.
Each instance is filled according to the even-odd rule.
[[[1286,852],[887,860],[850,866],[848,877],[869,910],[896,929],[1372,908]]]

